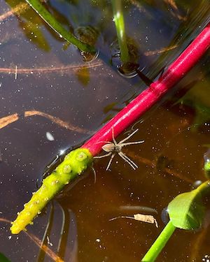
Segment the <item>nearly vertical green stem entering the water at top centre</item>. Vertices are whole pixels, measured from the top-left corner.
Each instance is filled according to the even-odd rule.
[[[116,24],[116,31],[118,35],[118,43],[120,46],[120,58],[123,63],[130,61],[130,55],[127,48],[125,36],[125,23],[123,17],[123,8],[121,0],[112,0],[113,21]]]

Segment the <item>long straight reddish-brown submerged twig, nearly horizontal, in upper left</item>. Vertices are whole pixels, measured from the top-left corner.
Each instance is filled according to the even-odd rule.
[[[97,66],[102,66],[102,61],[92,61],[90,63],[86,62],[85,64],[70,64],[68,66],[55,66],[55,67],[40,67],[40,68],[18,68],[18,67],[11,67],[11,68],[0,68],[0,73],[8,73],[8,74],[22,74],[22,75],[32,75],[32,74],[41,74],[41,73],[69,73],[78,71],[81,67],[85,68],[95,68]]]

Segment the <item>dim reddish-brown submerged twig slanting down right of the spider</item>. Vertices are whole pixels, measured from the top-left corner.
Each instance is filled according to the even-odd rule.
[[[126,154],[131,157],[132,159],[137,159],[137,161],[139,161],[140,163],[144,163],[145,165],[147,166],[151,166],[153,168],[156,167],[156,163],[155,161],[151,161],[149,159],[145,159],[144,157],[140,157],[140,156],[137,156],[134,152],[130,151],[130,150],[125,150]],[[173,175],[174,177],[177,177],[179,178],[180,180],[183,180],[187,183],[190,183],[190,184],[193,184],[194,181],[193,180],[190,180],[190,178],[188,177],[183,177],[183,175],[177,173],[175,170],[172,170],[171,168],[163,168],[163,171],[169,175]]]

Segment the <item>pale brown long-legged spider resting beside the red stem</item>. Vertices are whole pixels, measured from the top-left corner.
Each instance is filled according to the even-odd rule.
[[[102,157],[109,157],[109,156],[111,156],[111,159],[109,160],[109,163],[108,163],[108,165],[106,167],[106,170],[108,170],[109,167],[111,166],[111,162],[113,161],[113,158],[115,157],[116,154],[118,154],[120,157],[122,157],[123,160],[125,160],[125,162],[130,164],[130,166],[132,168],[134,168],[134,170],[136,170],[136,168],[138,168],[137,164],[134,163],[134,161],[132,161],[129,157],[126,156],[125,153],[122,152],[122,148],[125,147],[126,145],[135,145],[135,144],[144,143],[144,140],[137,141],[137,142],[125,143],[125,141],[127,141],[129,138],[131,138],[134,135],[134,133],[137,133],[137,131],[139,131],[139,129],[135,130],[129,136],[127,136],[127,138],[124,138],[119,143],[117,143],[117,141],[116,141],[116,139],[114,137],[114,131],[113,131],[113,128],[112,128],[113,143],[112,142],[106,142],[107,144],[103,145],[103,147],[102,147],[102,150],[104,150],[105,152],[108,152],[108,154],[104,154],[102,156],[94,157],[94,158],[101,159]]]

